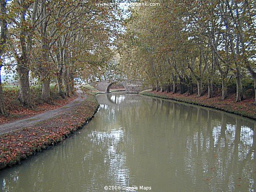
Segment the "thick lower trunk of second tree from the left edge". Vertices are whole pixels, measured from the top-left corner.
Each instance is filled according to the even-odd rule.
[[[23,63],[19,63],[17,66],[20,87],[18,99],[23,106],[33,108],[29,86],[29,70],[22,66],[24,66]]]

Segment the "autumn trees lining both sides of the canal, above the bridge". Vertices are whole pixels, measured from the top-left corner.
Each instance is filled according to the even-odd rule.
[[[18,99],[28,108],[32,79],[49,102],[53,82],[65,98],[76,81],[112,77],[198,97],[214,97],[220,87],[222,99],[234,83],[236,101],[253,80],[256,103],[253,1],[156,2],[0,0],[0,69],[15,68]]]

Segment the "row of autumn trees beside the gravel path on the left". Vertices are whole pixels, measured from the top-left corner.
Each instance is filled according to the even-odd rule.
[[[23,106],[33,107],[31,79],[41,84],[41,99],[49,102],[51,82],[57,82],[60,96],[71,96],[74,79],[103,73],[112,56],[118,13],[95,3],[0,0],[0,69],[15,66]],[[7,114],[1,76],[0,114]]]

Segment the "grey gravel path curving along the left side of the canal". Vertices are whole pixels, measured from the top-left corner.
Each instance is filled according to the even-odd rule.
[[[61,106],[60,108],[54,109],[54,110],[50,110],[47,111],[45,113],[41,113],[26,119],[21,119],[21,120],[17,120],[11,123],[6,123],[6,124],[2,124],[0,125],[0,135],[8,133],[8,132],[12,132],[27,126],[31,126],[34,125],[42,120],[47,120],[49,118],[67,113],[70,109],[80,105],[80,103],[86,99],[86,95],[84,95],[82,93],[82,91],[78,90],[78,97],[71,101],[69,104],[66,104],[64,106]]]

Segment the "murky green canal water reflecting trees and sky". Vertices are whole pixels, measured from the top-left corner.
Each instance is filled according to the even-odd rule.
[[[255,121],[138,94],[97,99],[82,130],[2,170],[0,191],[253,191]]]

